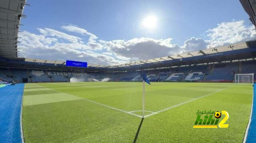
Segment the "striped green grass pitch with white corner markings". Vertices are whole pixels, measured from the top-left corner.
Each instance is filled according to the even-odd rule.
[[[152,83],[137,143],[242,142],[252,85]],[[28,83],[22,125],[26,143],[134,141],[142,114],[141,82]],[[196,112],[229,113],[228,128],[193,128]]]

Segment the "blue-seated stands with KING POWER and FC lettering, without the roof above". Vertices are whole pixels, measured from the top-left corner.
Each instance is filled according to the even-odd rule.
[[[239,70],[241,69],[241,70]],[[146,73],[150,81],[229,81],[235,73],[256,73],[256,61],[244,61],[225,64],[167,68],[163,70],[129,71],[121,73],[78,72],[62,70],[24,70],[0,68],[0,79],[12,82],[69,82],[71,78],[83,78],[85,81],[141,81],[141,73]],[[28,73],[28,76],[27,76]]]

